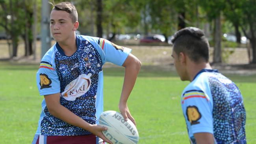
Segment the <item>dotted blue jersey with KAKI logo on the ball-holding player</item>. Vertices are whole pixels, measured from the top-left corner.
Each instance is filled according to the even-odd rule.
[[[131,49],[106,39],[76,35],[76,52],[66,56],[58,43],[43,57],[37,72],[40,95],[60,92],[60,103],[90,124],[97,124],[103,112],[103,72],[105,62],[122,66]],[[36,135],[89,135],[52,116],[45,100]]]

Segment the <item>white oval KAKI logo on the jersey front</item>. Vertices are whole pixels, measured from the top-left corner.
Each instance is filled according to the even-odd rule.
[[[61,92],[61,96],[65,98],[65,100],[74,101],[76,98],[85,94],[91,86],[91,74],[81,74],[78,78],[71,81],[63,92]]]

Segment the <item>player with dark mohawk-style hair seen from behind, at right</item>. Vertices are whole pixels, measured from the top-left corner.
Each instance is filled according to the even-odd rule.
[[[202,30],[188,27],[172,39],[176,71],[191,81],[181,95],[191,144],[246,144],[245,108],[237,86],[212,70]]]

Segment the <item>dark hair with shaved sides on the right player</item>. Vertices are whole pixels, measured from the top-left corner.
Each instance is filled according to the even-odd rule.
[[[209,61],[209,42],[204,32],[195,27],[187,27],[177,31],[171,42],[176,54],[184,52],[194,62]]]

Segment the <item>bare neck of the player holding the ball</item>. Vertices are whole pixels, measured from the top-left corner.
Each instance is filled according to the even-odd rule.
[[[58,42],[59,46],[62,48],[63,52],[67,56],[73,55],[76,50],[76,35],[72,35],[72,37],[69,37],[67,40],[63,42]]]

